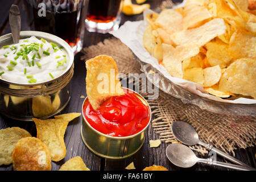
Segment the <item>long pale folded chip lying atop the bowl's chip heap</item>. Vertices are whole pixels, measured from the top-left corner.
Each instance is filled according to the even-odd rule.
[[[203,26],[185,31],[178,31],[171,35],[172,41],[177,45],[195,43],[197,46],[204,46],[207,42],[218,35],[225,33],[226,26],[223,19],[215,18]]]

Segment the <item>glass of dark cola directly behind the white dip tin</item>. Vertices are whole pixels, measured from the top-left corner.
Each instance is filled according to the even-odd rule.
[[[81,51],[89,0],[24,0],[31,29],[59,36]]]

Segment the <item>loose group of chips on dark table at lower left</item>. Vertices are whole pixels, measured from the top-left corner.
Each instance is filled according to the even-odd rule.
[[[50,171],[51,161],[65,158],[65,131],[68,123],[80,115],[61,114],[46,120],[32,118],[36,124],[36,138],[19,127],[0,130],[0,166],[13,163],[15,171]],[[89,171],[79,156],[69,159],[60,170]]]

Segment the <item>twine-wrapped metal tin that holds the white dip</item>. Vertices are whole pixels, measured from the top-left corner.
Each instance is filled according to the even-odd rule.
[[[61,47],[67,55],[65,59],[68,60],[68,65],[60,75],[42,82],[19,83],[0,77],[0,113],[20,121],[32,121],[32,117],[49,118],[63,110],[71,98],[69,81],[73,76],[74,67],[71,47],[63,39],[46,32],[20,32],[20,39],[31,36]],[[11,34],[0,37],[0,48],[11,44]]]

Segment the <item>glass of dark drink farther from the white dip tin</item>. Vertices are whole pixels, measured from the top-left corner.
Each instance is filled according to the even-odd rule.
[[[90,0],[85,19],[89,32],[106,34],[117,30],[121,22],[122,0]]]

